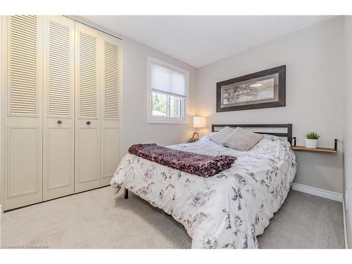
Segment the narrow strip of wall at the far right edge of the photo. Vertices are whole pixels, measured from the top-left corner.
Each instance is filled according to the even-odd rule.
[[[352,17],[349,15],[345,17],[345,32],[347,74],[344,116],[344,199],[348,246],[352,248]]]

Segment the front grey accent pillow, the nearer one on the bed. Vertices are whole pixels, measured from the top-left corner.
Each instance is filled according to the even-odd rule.
[[[256,134],[241,127],[237,127],[231,134],[223,139],[222,144],[236,151],[249,151],[256,146],[263,134]]]

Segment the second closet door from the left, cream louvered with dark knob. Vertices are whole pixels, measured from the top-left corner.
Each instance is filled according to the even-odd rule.
[[[74,36],[74,20],[44,17],[44,201],[74,192]]]

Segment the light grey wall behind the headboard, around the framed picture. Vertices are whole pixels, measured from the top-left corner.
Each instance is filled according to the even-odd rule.
[[[343,47],[344,19],[338,17],[199,68],[197,112],[208,116],[209,130],[214,123],[290,122],[297,144],[303,144],[303,134],[310,130],[322,135],[320,146],[333,147],[334,138],[339,139],[337,154],[296,152],[295,182],[341,193]],[[215,112],[216,82],[283,64],[287,65],[286,107]]]

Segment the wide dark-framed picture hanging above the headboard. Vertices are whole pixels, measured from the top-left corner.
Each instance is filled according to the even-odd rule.
[[[248,88],[249,86],[255,86],[253,84],[256,82],[259,84],[260,82],[263,82],[266,85],[265,87],[267,87],[267,91],[262,93],[266,94],[266,96],[269,94],[268,98],[263,97],[262,99],[251,99],[248,101],[245,101],[246,99],[244,99],[237,102],[239,96],[236,96],[236,94],[239,92],[241,93],[241,96],[245,98],[248,97],[246,93],[248,94],[251,92],[253,94],[253,90],[257,94],[260,93],[258,92],[258,88]],[[263,85],[263,83],[260,85]],[[253,95],[251,98],[253,98]],[[241,111],[281,106],[286,106],[286,65],[262,70],[241,77],[235,77],[216,84],[216,112]]]

